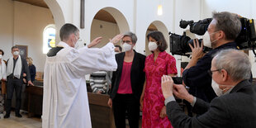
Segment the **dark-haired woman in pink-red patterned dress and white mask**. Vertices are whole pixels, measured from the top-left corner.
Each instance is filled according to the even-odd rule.
[[[146,81],[140,97],[143,128],[173,127],[166,115],[164,96],[161,89],[163,75],[177,74],[176,60],[165,52],[168,45],[160,31],[152,31],[147,36],[149,50],[153,53],[145,59]]]

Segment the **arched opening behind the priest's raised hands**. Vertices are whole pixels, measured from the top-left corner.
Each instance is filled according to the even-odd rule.
[[[92,20],[90,39],[92,41],[96,37],[102,36],[102,43],[97,45],[97,47],[102,47],[113,36],[129,30],[126,17],[119,10],[113,7],[105,7],[99,10]]]

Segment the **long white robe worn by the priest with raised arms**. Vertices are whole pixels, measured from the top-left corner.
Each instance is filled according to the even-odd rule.
[[[43,128],[91,128],[85,74],[115,71],[115,46],[79,50],[64,42],[56,56],[45,62]]]

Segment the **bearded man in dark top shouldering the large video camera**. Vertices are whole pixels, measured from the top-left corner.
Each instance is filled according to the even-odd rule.
[[[198,40],[194,40],[192,49],[192,59],[187,64],[183,72],[183,83],[189,87],[189,92],[195,97],[200,97],[206,102],[216,97],[216,93],[211,88],[211,76],[207,70],[211,69],[212,55],[225,49],[237,49],[235,38],[239,36],[241,22],[238,15],[230,12],[213,12],[212,21],[203,36],[203,43],[199,45]],[[203,44],[213,50],[205,54]]]

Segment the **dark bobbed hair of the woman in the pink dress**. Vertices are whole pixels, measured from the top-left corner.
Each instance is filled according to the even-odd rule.
[[[160,31],[151,31],[149,32],[147,38],[149,40],[149,36],[152,37],[154,40],[157,41],[159,47],[158,49],[162,52],[167,49],[167,43],[166,40],[164,39],[164,35]]]

